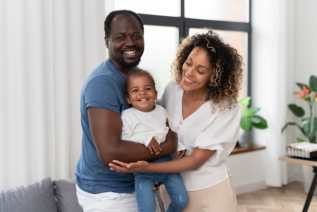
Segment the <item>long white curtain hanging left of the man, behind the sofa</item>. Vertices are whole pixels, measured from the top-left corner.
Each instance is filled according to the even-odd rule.
[[[104,1],[0,1],[0,189],[74,178],[80,92],[105,59]]]

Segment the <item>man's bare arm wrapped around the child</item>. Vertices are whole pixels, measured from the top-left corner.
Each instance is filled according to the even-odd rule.
[[[150,161],[172,154],[177,147],[177,134],[169,130],[166,142],[161,144],[161,153],[150,154],[144,145],[121,139],[120,114],[110,110],[90,108],[88,118],[99,159],[105,167],[108,167],[113,159],[127,163],[138,160]]]

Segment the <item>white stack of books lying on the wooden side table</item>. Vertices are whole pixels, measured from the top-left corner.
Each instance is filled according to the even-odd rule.
[[[309,142],[299,142],[286,146],[287,155],[300,158],[317,157],[317,144]]]

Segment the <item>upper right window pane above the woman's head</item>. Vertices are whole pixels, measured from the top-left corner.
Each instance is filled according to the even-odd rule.
[[[249,22],[249,0],[185,0],[185,17]]]

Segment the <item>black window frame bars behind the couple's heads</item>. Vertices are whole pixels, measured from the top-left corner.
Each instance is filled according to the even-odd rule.
[[[230,31],[243,31],[248,33],[248,56],[243,58],[248,64],[248,76],[247,79],[247,95],[251,96],[251,40],[252,40],[252,28],[251,28],[251,2],[249,0],[249,22],[231,22],[231,21],[216,21],[216,20],[204,20],[204,19],[193,19],[185,18],[184,1],[181,2],[181,16],[159,16],[159,15],[148,15],[139,14],[145,25],[156,25],[156,26],[173,26],[179,28],[179,38],[187,36],[189,28],[202,28],[211,27],[217,30],[230,30]]]

